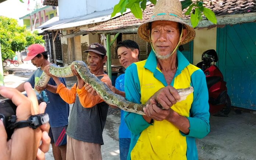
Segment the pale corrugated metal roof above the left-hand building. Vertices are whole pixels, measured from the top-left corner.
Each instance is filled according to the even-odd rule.
[[[43,24],[38,28],[43,28],[43,30],[58,30],[58,29],[88,25],[92,23],[104,22],[110,19],[112,12],[113,12],[113,9],[93,12],[92,14],[88,14],[80,17],[74,17],[74,18],[55,21],[48,25]]]

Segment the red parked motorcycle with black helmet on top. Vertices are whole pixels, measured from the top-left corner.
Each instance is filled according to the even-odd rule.
[[[218,62],[217,52],[215,50],[207,50],[202,54],[202,62],[199,62],[196,66],[202,69],[206,76],[210,113],[218,116],[227,116],[231,110],[231,101],[227,94],[227,86],[223,79],[223,74],[215,65],[216,62]]]

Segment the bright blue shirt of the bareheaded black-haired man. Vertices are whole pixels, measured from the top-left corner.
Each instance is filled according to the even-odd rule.
[[[124,92],[124,77],[125,74],[121,74],[115,80],[115,88]],[[131,138],[131,132],[124,121],[124,110],[121,110],[121,122],[119,126],[119,138]]]

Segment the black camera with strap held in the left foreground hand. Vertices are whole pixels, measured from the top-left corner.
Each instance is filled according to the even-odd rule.
[[[27,96],[26,94],[24,94]],[[36,93],[38,104],[43,102],[43,98]],[[11,99],[4,98],[0,95],[0,119],[4,123],[4,127],[7,132],[7,139],[11,138],[15,128],[31,127],[36,129],[37,127],[45,124],[49,121],[48,114],[37,114],[30,116],[26,121],[16,122],[16,108],[17,106],[11,101]]]

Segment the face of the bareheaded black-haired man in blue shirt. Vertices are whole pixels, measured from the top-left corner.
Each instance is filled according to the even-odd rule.
[[[122,66],[126,69],[129,65],[134,62],[138,62],[139,50],[126,47],[119,47],[117,49],[117,57]]]

